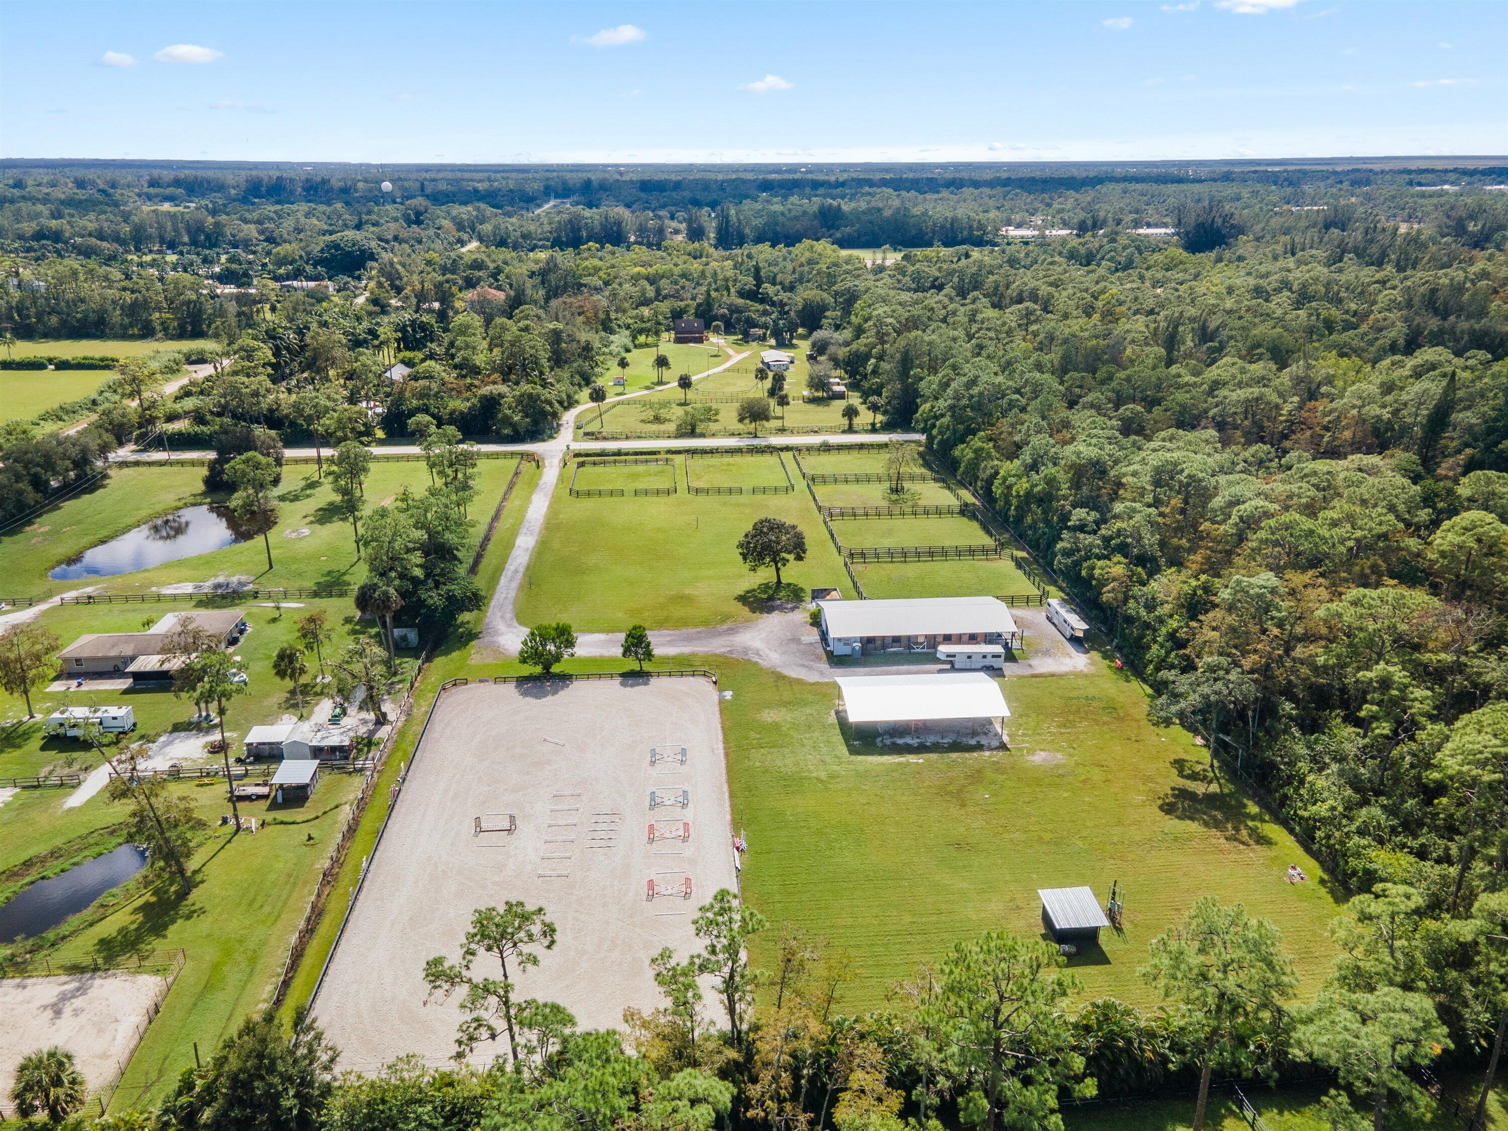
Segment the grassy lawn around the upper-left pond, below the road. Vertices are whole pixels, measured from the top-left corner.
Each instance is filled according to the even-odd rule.
[[[474,538],[481,537],[513,467],[511,458],[478,463],[477,498],[470,505],[477,520]],[[202,466],[115,469],[104,487],[69,499],[24,529],[0,538],[3,588],[9,590],[0,596],[42,596],[87,585],[125,593],[219,576],[255,578],[265,588],[300,588],[356,585],[365,576],[365,567],[356,559],[351,523],[338,511],[329,478],[317,480],[314,464],[306,463],[284,467],[284,481],[277,489],[279,517],[270,538],[271,570],[267,569],[262,540],[252,538],[113,578],[51,581],[47,576],[54,566],[149,519],[211,501],[204,495],[202,483]],[[422,492],[428,483],[430,474],[421,461],[375,461],[366,480],[366,504],[391,502],[406,487]],[[308,534],[290,537],[299,531]]]

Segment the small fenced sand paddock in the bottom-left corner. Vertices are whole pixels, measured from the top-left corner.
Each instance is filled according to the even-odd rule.
[[[48,1045],[74,1054],[90,1092],[109,1086],[131,1059],[163,994],[157,974],[57,974],[0,979],[0,1099],[21,1057]]]

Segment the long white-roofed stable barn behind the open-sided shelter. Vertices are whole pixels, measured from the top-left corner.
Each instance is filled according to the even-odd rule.
[[[822,645],[834,656],[936,651],[942,644],[1021,647],[1021,630],[995,597],[819,600]]]

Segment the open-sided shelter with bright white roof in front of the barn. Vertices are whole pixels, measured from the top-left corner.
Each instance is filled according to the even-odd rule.
[[[1000,685],[982,671],[840,676],[838,689],[849,724],[882,737],[1006,740],[1010,709]]]

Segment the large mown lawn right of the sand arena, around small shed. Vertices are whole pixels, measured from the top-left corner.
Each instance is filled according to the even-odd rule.
[[[719,661],[734,828],[749,843],[743,897],[851,952],[844,1006],[879,1006],[894,980],[961,938],[1042,930],[1036,890],[1126,888],[1123,935],[1074,959],[1086,997],[1146,1004],[1148,942],[1217,894],[1270,917],[1304,991],[1330,968],[1338,893],[1240,793],[1206,778],[1203,752],[1146,721],[1143,689],[1096,661],[1083,676],[1003,680],[1012,749],[857,756],[832,718],[837,688]],[[754,959],[774,961],[778,930]]]

